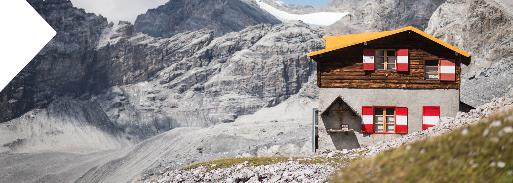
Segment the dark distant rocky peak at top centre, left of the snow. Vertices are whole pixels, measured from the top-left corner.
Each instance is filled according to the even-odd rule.
[[[261,23],[281,22],[250,0],[173,0],[137,16],[134,28],[153,37],[207,28],[218,37]]]

